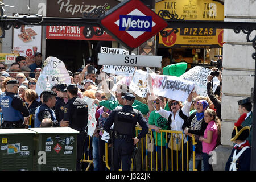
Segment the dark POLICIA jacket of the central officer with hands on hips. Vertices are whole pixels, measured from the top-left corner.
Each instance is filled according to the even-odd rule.
[[[142,127],[142,131],[138,134],[137,138],[141,140],[148,132],[148,125],[146,119],[143,117],[141,111],[133,109],[130,105],[123,107],[118,106],[109,115],[104,123],[103,129],[110,133],[110,127],[114,123],[114,131],[120,135],[127,135],[135,137],[135,127],[137,122]]]

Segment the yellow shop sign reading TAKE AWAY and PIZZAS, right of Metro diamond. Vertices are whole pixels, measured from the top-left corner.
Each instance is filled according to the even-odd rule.
[[[184,20],[224,20],[224,5],[212,0],[168,0],[155,5],[156,13],[167,10]],[[171,31],[172,28],[164,29]],[[164,38],[159,35],[159,47],[164,48],[221,48],[223,46],[223,30],[216,28],[178,28]]]

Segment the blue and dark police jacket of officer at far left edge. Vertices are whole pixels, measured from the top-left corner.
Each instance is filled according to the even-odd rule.
[[[25,102],[22,101],[22,98],[18,94],[7,92],[2,97],[0,105],[3,113],[3,121],[23,121],[24,117],[28,117],[29,115]]]

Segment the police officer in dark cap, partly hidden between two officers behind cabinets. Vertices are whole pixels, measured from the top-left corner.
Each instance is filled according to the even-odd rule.
[[[57,84],[56,94],[56,104],[53,109],[55,110],[57,121],[61,121],[64,116],[64,98],[67,97],[67,84]]]

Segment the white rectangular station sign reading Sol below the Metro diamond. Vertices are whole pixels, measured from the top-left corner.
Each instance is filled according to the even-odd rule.
[[[161,67],[162,56],[113,55],[98,53],[98,65],[126,65],[134,67]]]

